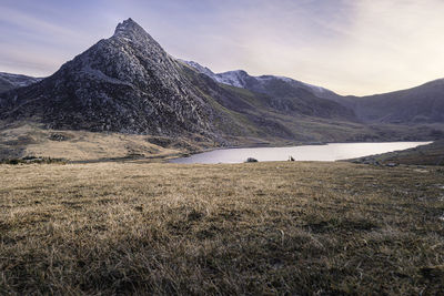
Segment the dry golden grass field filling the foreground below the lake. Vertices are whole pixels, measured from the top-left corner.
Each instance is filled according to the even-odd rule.
[[[0,294],[440,294],[444,174],[0,165]]]

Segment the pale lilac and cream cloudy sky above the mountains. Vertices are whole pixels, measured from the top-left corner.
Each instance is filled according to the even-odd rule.
[[[47,76],[132,18],[171,55],[365,95],[444,78],[443,0],[1,0],[0,72]]]

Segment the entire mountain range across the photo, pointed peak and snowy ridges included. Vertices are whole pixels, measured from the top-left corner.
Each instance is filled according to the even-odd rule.
[[[43,80],[2,73],[0,119],[51,129],[276,142],[426,140],[444,134],[444,82],[373,96],[169,55],[128,19]],[[3,80],[4,78],[4,80]],[[11,83],[11,81],[17,81]],[[1,84],[3,85],[3,84]]]

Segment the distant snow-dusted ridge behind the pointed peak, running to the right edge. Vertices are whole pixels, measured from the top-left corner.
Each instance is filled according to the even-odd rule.
[[[297,95],[301,90],[305,90],[317,98],[327,99],[349,108],[356,119],[364,123],[417,124],[444,122],[444,79],[408,90],[360,98],[342,96],[327,89],[290,78],[251,76],[242,70],[216,74],[196,62],[186,61],[186,63],[219,83],[265,93],[274,98]]]

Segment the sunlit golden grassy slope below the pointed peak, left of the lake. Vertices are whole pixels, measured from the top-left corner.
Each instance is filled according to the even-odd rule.
[[[150,143],[152,136],[147,135],[47,130],[32,122],[0,126],[0,160],[39,156],[97,161],[134,155],[164,159],[188,149],[154,145]]]

